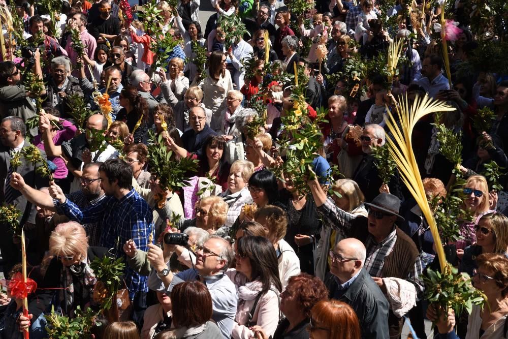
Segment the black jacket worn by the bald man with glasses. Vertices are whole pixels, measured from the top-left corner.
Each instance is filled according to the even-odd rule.
[[[339,291],[336,280],[331,279],[329,291],[330,298],[343,301],[355,310],[362,338],[389,338],[390,304],[365,268],[362,268],[355,281],[346,290]]]

